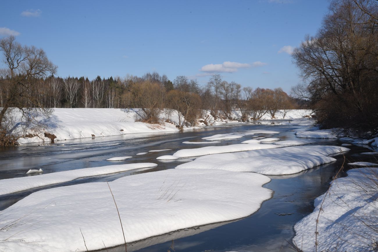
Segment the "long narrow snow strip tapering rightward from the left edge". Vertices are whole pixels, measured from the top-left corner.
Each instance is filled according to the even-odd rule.
[[[110,173],[125,172],[140,168],[152,168],[154,163],[119,164],[102,167],[91,167],[84,169],[69,170],[64,172],[54,172],[38,176],[26,176],[22,178],[10,178],[0,180],[0,195],[20,192],[41,186],[73,181],[78,178],[99,176]]]

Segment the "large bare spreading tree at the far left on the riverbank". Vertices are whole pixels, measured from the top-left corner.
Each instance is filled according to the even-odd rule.
[[[3,54],[3,63],[6,68],[2,70],[8,76],[2,81],[2,108],[0,110],[0,145],[3,145],[5,136],[9,135],[6,127],[6,116],[11,108],[18,108],[23,114],[31,107],[39,108],[42,113],[47,113],[42,104],[29,94],[35,88],[36,80],[56,73],[57,66],[48,60],[45,51],[35,46],[22,46],[16,42],[14,36],[0,40],[0,51]],[[25,102],[30,106],[25,108]],[[9,144],[9,141],[8,141]]]

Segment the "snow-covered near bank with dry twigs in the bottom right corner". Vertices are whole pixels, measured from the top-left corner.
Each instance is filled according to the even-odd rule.
[[[318,251],[375,251],[372,243],[378,235],[378,170],[359,168],[349,170],[347,174],[347,177],[333,181],[329,193],[315,199],[313,213],[294,226],[296,236],[293,240],[304,252],[315,249],[320,209]]]

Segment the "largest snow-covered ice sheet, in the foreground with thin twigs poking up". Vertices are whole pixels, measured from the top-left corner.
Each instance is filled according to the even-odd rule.
[[[126,176],[109,186],[130,243],[249,216],[271,197],[262,187],[269,181],[257,173],[169,169]],[[5,251],[87,251],[124,243],[106,182],[32,193],[3,210],[0,220],[0,240],[9,240],[1,245]]]

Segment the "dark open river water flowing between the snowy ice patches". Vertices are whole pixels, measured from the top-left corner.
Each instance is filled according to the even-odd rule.
[[[161,155],[170,155],[183,148],[198,148],[209,145],[239,144],[251,139],[251,136],[234,140],[225,140],[218,144],[191,145],[183,141],[203,141],[201,138],[215,134],[245,132],[248,130],[279,131],[274,137],[281,140],[298,139],[292,130],[305,127],[307,120],[293,120],[288,125],[277,125],[280,122],[263,122],[263,124],[237,124],[220,127],[206,127],[201,130],[184,133],[133,134],[115,137],[60,141],[52,145],[37,144],[19,147],[0,148],[0,179],[26,176],[28,169],[42,169],[44,173],[64,170],[98,167],[110,164],[127,164],[134,162],[154,162],[153,169],[139,169],[112,175],[77,179],[75,181],[0,196],[0,210],[14,204],[37,190],[67,186],[71,184],[112,181],[122,176],[138,173],[172,169],[184,161],[162,162],[156,160]],[[261,136],[267,136],[262,134]],[[342,141],[316,139],[320,145],[338,145]],[[61,146],[64,144],[64,146]],[[377,156],[361,155],[369,152],[366,145],[348,146],[351,150],[343,153],[347,161],[376,162]],[[171,149],[164,152],[150,152],[135,156],[139,152]],[[301,173],[284,176],[269,176],[271,182],[265,185],[274,191],[273,197],[265,201],[262,207],[251,216],[228,223],[217,223],[179,230],[159,237],[153,237],[137,243],[128,244],[128,251],[293,251],[287,241],[294,237],[294,224],[313,211],[313,201],[328,188],[329,182],[341,167],[344,156],[335,155],[337,161],[321,165]],[[105,159],[115,156],[133,156],[126,161],[110,162]],[[188,161],[188,160],[185,160]],[[279,165],[279,164],[277,164]],[[345,170],[353,168],[345,165]],[[345,176],[345,173],[341,173]],[[1,184],[1,182],[0,182]],[[287,240],[287,241],[285,241]],[[106,251],[106,250],[105,250]],[[124,247],[108,249],[124,251]]]

